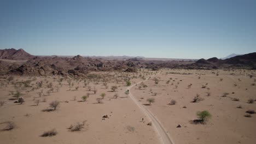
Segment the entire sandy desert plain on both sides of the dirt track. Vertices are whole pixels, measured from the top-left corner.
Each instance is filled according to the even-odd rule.
[[[173,143],[254,143],[256,114],[245,115],[248,115],[247,110],[256,110],[255,76],[252,70],[181,69],[97,72],[91,79],[14,76],[12,80],[3,76],[0,141],[162,143],[154,123],[148,125],[152,119],[131,99],[135,97],[141,107],[158,119]],[[127,79],[133,87],[126,86]],[[112,86],[118,89],[112,92]],[[130,94],[126,95],[127,88],[130,88]],[[94,89],[97,89],[96,94]],[[25,103],[14,103],[17,91]],[[81,97],[88,93],[89,98],[83,101]],[[102,98],[102,93],[106,97]],[[223,97],[224,93],[228,93],[226,97]],[[115,94],[118,98],[113,98]],[[197,94],[200,100],[191,103]],[[148,98],[154,98],[155,103],[148,105]],[[253,99],[252,103],[248,103],[249,99]],[[60,101],[56,110],[49,107],[54,100]],[[171,100],[176,100],[176,104],[170,105]],[[39,101],[38,105],[36,101]],[[209,111],[212,117],[204,124],[191,122],[197,119],[196,112],[203,110]],[[108,118],[103,118],[104,115]],[[14,123],[14,129],[7,130],[8,122]],[[68,129],[70,125],[83,122],[80,131]],[[181,128],[176,128],[178,124]],[[51,129],[57,131],[55,136],[40,136]]]

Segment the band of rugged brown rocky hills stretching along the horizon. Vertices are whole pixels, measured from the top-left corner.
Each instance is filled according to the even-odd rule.
[[[234,56],[234,55],[233,55]],[[90,71],[129,71],[139,68],[158,70],[171,69],[256,69],[256,52],[227,59],[217,57],[185,61],[183,59],[143,58],[129,56],[109,57],[60,57],[33,56],[19,49],[0,50],[0,59],[28,60],[22,63],[0,61],[1,74],[15,75],[63,75],[85,76]],[[118,61],[117,61],[118,59]]]

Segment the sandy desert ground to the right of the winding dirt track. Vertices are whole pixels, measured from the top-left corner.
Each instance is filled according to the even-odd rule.
[[[255,143],[256,115],[245,117],[247,110],[256,110],[256,101],[248,103],[256,99],[255,77],[250,75],[255,76],[255,71],[162,70],[156,79],[144,82],[146,89],[137,85],[131,92],[154,113],[175,143]],[[229,94],[223,97],[224,93]],[[203,100],[191,103],[196,94]],[[147,105],[148,98],[155,103]],[[170,105],[171,100],[176,104]],[[196,112],[203,110],[212,117],[206,124],[192,124]],[[176,128],[178,124],[182,127]]]

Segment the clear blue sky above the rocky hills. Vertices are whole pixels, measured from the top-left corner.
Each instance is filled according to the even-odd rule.
[[[256,1],[0,1],[0,49],[32,55],[225,57],[256,52]]]

